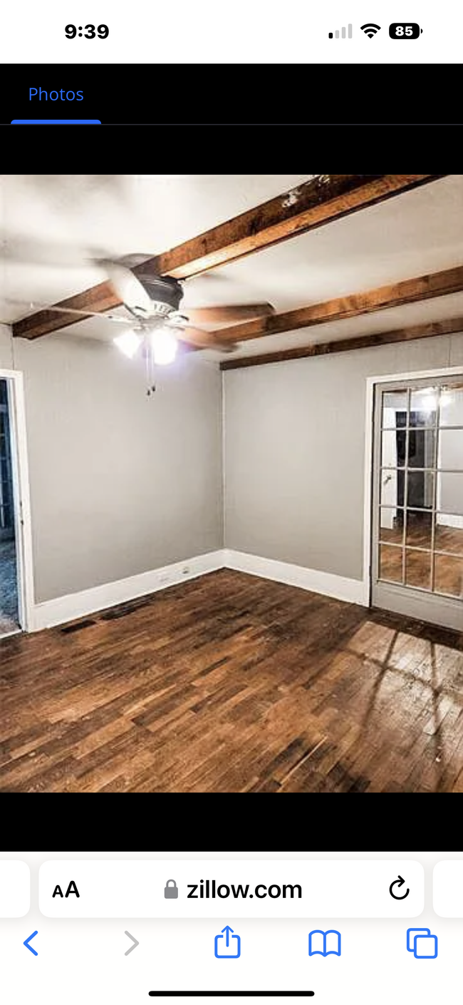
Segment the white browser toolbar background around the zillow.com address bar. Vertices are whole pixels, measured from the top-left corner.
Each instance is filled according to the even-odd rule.
[[[30,864],[31,912],[0,922],[2,1001],[8,1005],[148,1005],[150,989],[311,989],[314,1005],[461,1005],[463,922],[438,918],[432,909],[432,869],[440,859],[463,860],[458,851],[436,852],[2,852]],[[238,960],[216,960],[214,938],[229,921],[50,920],[38,910],[38,868],[56,858],[411,858],[425,868],[426,906],[416,921],[243,919],[232,925],[241,936]],[[244,903],[244,901],[243,901]],[[320,920],[321,921],[321,920]],[[438,937],[436,960],[415,960],[407,952],[407,928],[427,927]],[[338,929],[341,956],[308,957],[310,929]],[[23,941],[35,929],[32,956]],[[132,945],[130,931],[140,946]],[[195,1000],[192,1000],[195,1001]],[[219,1005],[213,998],[198,1005]],[[229,999],[234,1005],[233,999]],[[161,999],[160,1005],[185,1005]],[[235,1002],[236,1005],[236,1002]],[[243,1005],[248,1005],[244,1000]],[[249,1005],[259,1005],[251,1000]],[[264,1003],[262,1002],[262,1005]],[[268,1001],[266,1003],[268,1005]],[[277,1003],[275,1002],[275,1005]],[[281,1002],[281,1005],[286,1005]],[[287,1003],[290,1005],[290,1003]],[[292,1000],[292,1005],[294,1001]]]

